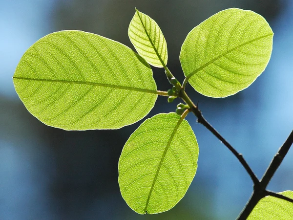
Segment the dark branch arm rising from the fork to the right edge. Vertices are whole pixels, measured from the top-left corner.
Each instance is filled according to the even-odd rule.
[[[276,170],[282,163],[284,157],[288,153],[292,143],[293,143],[293,131],[290,133],[289,137],[287,138],[285,143],[282,145],[282,147],[280,147],[277,154],[275,154],[264,176],[261,178],[260,182],[261,182],[261,185],[264,186],[264,188],[266,188],[267,185],[269,184],[270,180],[272,179],[272,176],[274,175],[274,173],[276,172]]]

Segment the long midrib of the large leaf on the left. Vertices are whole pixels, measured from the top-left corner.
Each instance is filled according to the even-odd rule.
[[[119,89],[140,91],[140,92],[146,92],[146,93],[152,93],[152,94],[161,94],[161,91],[157,91],[157,90],[151,90],[151,89],[146,89],[146,88],[118,86],[118,85],[111,85],[111,84],[105,84],[105,83],[93,83],[93,82],[69,81],[69,80],[55,80],[55,79],[36,79],[36,78],[17,77],[17,76],[14,76],[13,79],[32,80],[32,81],[51,82],[51,83],[69,83],[69,84],[78,84],[78,85],[91,85],[91,86],[98,86],[98,87],[119,88]]]

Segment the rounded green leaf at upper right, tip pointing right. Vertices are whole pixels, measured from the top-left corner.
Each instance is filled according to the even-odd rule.
[[[272,36],[270,25],[252,11],[220,11],[193,28],[182,45],[186,82],[210,97],[247,88],[270,60]]]

